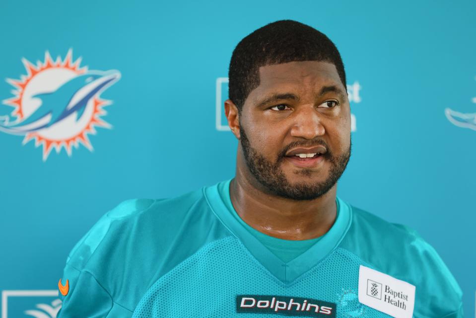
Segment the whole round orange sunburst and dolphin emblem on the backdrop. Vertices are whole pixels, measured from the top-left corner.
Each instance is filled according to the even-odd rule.
[[[81,67],[81,58],[73,61],[72,50],[65,59],[55,61],[48,52],[44,62],[33,65],[22,59],[26,75],[20,79],[6,79],[15,90],[13,97],[3,104],[14,109],[10,116],[0,116],[0,132],[23,135],[23,145],[31,140],[35,147],[43,146],[43,160],[55,148],[64,148],[71,156],[72,147],[93,147],[88,135],[96,134],[95,127],[110,129],[101,119],[110,100],[101,99],[101,93],[118,81],[116,70],[89,71]]]

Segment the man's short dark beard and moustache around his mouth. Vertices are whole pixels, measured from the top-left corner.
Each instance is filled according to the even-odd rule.
[[[342,155],[336,158],[323,140],[314,140],[307,143],[294,142],[287,145],[278,154],[276,162],[273,163],[251,147],[243,127],[240,129],[240,135],[241,147],[250,172],[270,193],[287,199],[312,200],[326,194],[339,180],[350,158],[351,144]],[[322,182],[290,183],[280,168],[285,160],[285,154],[295,147],[313,147],[316,145],[323,145],[327,149],[327,152],[321,156],[331,163],[329,177]],[[301,169],[294,173],[310,177],[313,172],[310,169]]]

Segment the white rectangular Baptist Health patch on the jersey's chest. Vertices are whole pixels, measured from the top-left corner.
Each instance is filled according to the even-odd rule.
[[[395,318],[411,318],[415,286],[360,265],[359,302]]]

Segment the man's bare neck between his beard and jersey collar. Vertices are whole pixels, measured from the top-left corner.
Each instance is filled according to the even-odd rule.
[[[252,228],[279,239],[314,239],[326,234],[337,215],[334,185],[314,200],[291,200],[264,192],[254,186],[245,171],[237,169],[230,183],[233,207]]]

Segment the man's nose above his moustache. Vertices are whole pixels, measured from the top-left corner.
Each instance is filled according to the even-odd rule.
[[[326,130],[321,120],[320,114],[313,106],[303,107],[295,113],[291,136],[305,139],[323,136]]]

